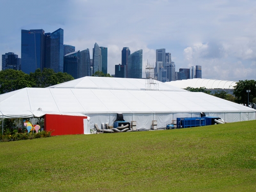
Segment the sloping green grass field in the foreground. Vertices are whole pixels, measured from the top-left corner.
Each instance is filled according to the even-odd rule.
[[[255,120],[0,148],[0,191],[256,191]]]

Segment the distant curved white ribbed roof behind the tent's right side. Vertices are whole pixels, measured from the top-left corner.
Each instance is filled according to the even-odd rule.
[[[234,89],[237,85],[237,81],[227,81],[227,80],[216,80],[216,79],[183,79],[178,81],[165,82],[168,85],[176,86],[178,88],[185,89],[187,87],[191,88],[201,88],[206,89]]]

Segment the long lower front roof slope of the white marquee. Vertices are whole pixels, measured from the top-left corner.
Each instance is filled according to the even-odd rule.
[[[9,118],[35,114],[39,108],[43,113],[61,114],[255,112],[218,97],[187,91],[24,88],[0,95],[0,101],[0,111]]]

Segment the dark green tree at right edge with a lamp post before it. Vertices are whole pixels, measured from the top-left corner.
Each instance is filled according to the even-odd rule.
[[[236,96],[236,102],[244,105],[248,105],[248,93],[246,90],[250,90],[249,102],[256,97],[256,81],[255,80],[239,80],[237,85],[234,86],[233,94]]]

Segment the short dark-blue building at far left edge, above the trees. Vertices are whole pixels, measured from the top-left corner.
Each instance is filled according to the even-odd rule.
[[[14,69],[19,70],[21,59],[14,53],[6,53],[2,55],[2,70]]]

